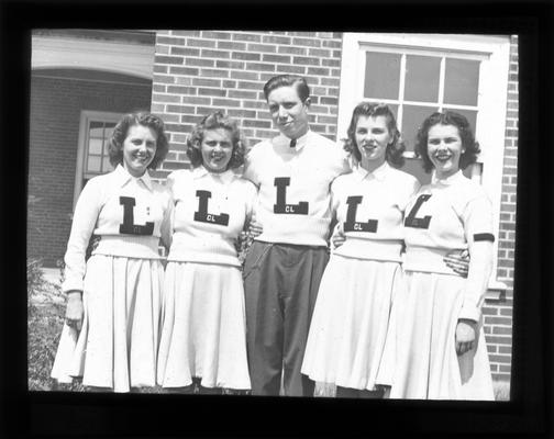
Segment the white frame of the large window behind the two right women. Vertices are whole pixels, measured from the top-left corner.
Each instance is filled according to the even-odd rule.
[[[455,55],[456,58],[481,60],[478,88],[478,123],[475,133],[481,147],[478,162],[483,175],[474,167],[474,178],[481,184],[492,202],[494,232],[498,237],[502,192],[502,166],[505,151],[508,72],[510,63],[510,36],[456,35],[456,34],[385,34],[344,33],[342,45],[341,88],[339,97],[339,138],[346,137],[352,110],[363,100],[365,78],[365,52],[407,53],[409,55]],[[444,63],[441,63],[442,65]],[[441,66],[441,75],[444,67]],[[400,79],[402,87],[403,78]],[[442,81],[441,81],[442,83]],[[401,94],[403,97],[403,93]],[[442,101],[442,87],[440,91]],[[387,100],[383,100],[387,102]],[[421,104],[418,102],[418,104]],[[464,105],[447,105],[464,109]],[[469,109],[469,106],[467,106]],[[475,106],[470,106],[475,109]],[[401,116],[401,115],[400,115]],[[408,155],[410,156],[410,155]],[[489,290],[501,291],[507,286],[496,280],[498,239],[495,241],[495,259]]]

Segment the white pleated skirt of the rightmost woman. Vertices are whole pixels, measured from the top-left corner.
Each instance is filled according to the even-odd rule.
[[[456,353],[465,279],[422,272],[407,272],[405,278],[407,289],[397,296],[385,354],[394,372],[379,378],[391,384],[390,397],[492,401],[481,322],[474,349]]]

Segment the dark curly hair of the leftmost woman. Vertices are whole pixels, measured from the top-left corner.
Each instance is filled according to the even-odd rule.
[[[129,128],[134,125],[147,126],[156,133],[156,153],[154,154],[154,159],[148,165],[148,169],[156,169],[167,156],[169,142],[164,131],[164,121],[147,112],[129,113],[118,122],[108,144],[110,164],[113,167],[123,164],[123,142],[125,142],[129,134]]]

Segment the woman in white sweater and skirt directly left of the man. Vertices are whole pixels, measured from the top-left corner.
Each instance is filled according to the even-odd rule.
[[[192,169],[169,175],[175,201],[164,284],[158,384],[175,392],[251,387],[244,288],[236,241],[256,188],[234,170],[245,142],[234,121],[208,114],[188,138]]]

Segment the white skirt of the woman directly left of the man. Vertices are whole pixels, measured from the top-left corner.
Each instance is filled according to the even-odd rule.
[[[251,389],[244,288],[239,267],[168,262],[157,382]]]

